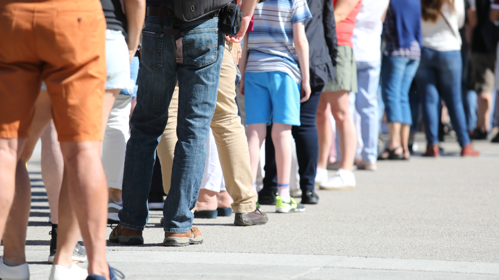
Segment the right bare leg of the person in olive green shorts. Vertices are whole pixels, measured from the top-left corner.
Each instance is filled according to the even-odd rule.
[[[341,154],[340,168],[352,171],[355,149],[357,148],[357,134],[349,112],[349,92],[329,92],[323,93],[323,95],[327,97],[336,121],[336,133],[338,134]]]

